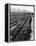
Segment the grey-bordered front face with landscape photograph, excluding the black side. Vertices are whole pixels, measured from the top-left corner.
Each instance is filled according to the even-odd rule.
[[[8,41],[35,40],[34,5],[8,4]]]

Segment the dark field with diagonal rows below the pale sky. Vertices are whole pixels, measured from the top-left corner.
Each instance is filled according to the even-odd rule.
[[[10,40],[25,41],[31,36],[31,13],[12,12],[10,16]]]

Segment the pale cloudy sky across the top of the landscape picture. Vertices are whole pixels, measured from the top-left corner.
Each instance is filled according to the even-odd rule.
[[[33,12],[33,6],[15,6],[15,5],[11,5],[11,11],[15,11],[15,12],[21,12],[21,11],[29,11],[29,12]]]

